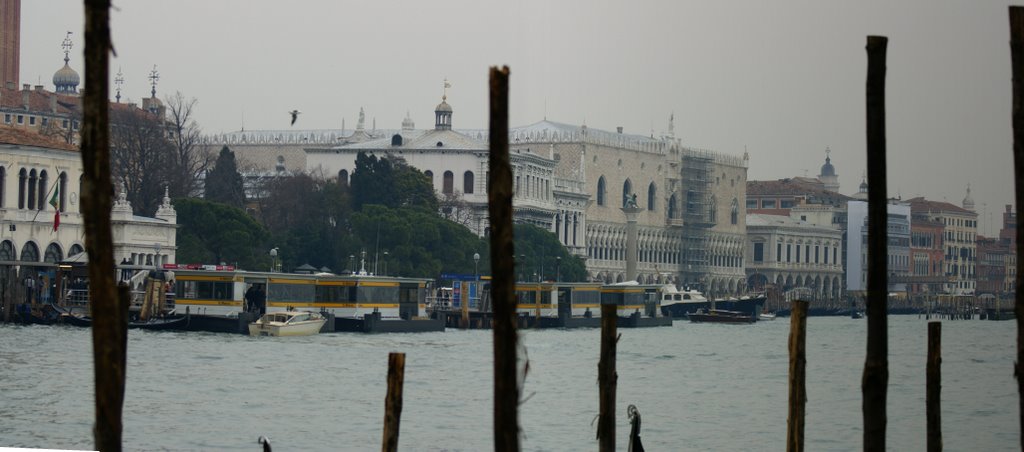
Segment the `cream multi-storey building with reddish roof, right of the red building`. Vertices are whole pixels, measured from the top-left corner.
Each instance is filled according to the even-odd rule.
[[[906,201],[914,212],[931,221],[943,225],[943,272],[947,281],[943,293],[970,295],[976,289],[978,214],[964,207],[947,202],[913,198]],[[973,207],[970,189],[963,203]]]

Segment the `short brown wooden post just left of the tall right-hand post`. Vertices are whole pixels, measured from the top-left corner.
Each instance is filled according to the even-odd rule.
[[[807,406],[807,301],[794,300],[790,313],[790,417],[785,450],[804,450],[804,412]]]

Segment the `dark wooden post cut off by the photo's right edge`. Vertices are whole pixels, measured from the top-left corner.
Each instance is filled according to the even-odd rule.
[[[1024,7],[1010,7],[1010,56],[1013,67],[1013,125],[1014,125],[1014,193],[1017,214],[1024,210]],[[1017,376],[1021,449],[1024,449],[1024,229],[1017,228],[1017,288],[1014,314],[1017,315]]]

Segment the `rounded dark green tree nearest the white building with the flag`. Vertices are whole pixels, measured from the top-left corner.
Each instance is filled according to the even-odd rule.
[[[268,234],[242,209],[195,198],[174,200],[178,214],[177,260],[240,269],[268,268]],[[267,248],[269,249],[269,248]]]

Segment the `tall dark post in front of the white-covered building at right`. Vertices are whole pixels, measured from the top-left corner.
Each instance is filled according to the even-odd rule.
[[[886,47],[867,37],[867,358],[861,379],[864,450],[886,450],[889,384],[888,233],[886,189]]]

